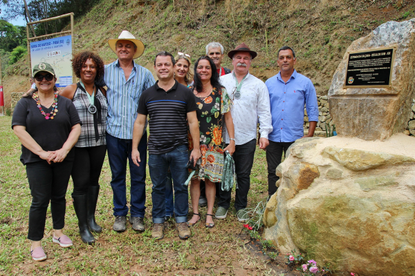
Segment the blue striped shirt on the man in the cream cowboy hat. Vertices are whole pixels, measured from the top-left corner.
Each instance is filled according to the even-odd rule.
[[[137,117],[138,99],[142,91],[156,82],[151,72],[134,63],[129,79],[118,59],[105,66],[104,81],[107,85],[107,132],[120,139],[133,139],[133,125]]]

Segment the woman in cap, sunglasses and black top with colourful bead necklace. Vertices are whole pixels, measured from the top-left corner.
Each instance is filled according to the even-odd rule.
[[[21,141],[21,162],[26,165],[32,205],[29,211],[28,239],[35,261],[43,261],[42,248],[46,211],[50,201],[53,242],[72,246],[64,235],[66,189],[74,159],[72,150],[81,133],[75,106],[57,95],[55,71],[48,63],[33,67],[36,90],[24,96],[13,112],[12,128]],[[59,105],[59,108],[57,107]]]

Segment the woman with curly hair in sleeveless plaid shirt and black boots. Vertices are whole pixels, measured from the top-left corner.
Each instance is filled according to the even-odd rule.
[[[104,76],[104,62],[93,52],[80,52],[72,59],[72,68],[80,82],[66,86],[60,95],[71,99],[82,120],[81,135],[75,144],[72,168],[73,208],[78,219],[82,242],[95,242],[91,231],[100,233],[95,209],[100,192],[99,179],[107,143],[107,91],[95,84]]]

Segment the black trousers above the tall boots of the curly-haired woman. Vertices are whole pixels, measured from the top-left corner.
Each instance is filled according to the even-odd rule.
[[[72,195],[86,195],[89,186],[98,186],[107,146],[75,148],[72,167]]]

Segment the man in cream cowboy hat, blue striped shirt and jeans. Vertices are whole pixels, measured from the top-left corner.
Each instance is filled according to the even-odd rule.
[[[133,124],[137,117],[138,99],[142,91],[154,85],[151,72],[134,63],[133,59],[144,52],[144,44],[133,34],[123,30],[118,39],[109,39],[111,49],[118,59],[105,66],[104,81],[107,85],[107,152],[111,168],[113,189],[113,214],[116,221],[113,230],[126,229],[128,206],[126,197],[127,159],[131,176],[131,200],[129,221],[136,231],[144,231],[145,215],[145,164],[147,157],[147,132],[138,145],[142,156],[140,166],[131,160]]]

